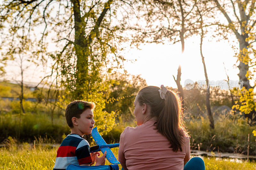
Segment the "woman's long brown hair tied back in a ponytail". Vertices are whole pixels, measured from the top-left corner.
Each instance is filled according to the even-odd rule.
[[[150,107],[151,116],[157,117],[156,129],[170,141],[174,152],[182,151],[184,136],[187,135],[183,123],[182,104],[179,95],[171,90],[161,99],[159,87],[147,86],[138,93],[140,105],[145,103]]]

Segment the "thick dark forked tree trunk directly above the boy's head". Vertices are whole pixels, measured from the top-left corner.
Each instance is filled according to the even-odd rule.
[[[85,99],[86,96],[83,94],[88,94],[90,92],[90,78],[89,78],[89,63],[88,58],[90,56],[90,45],[95,37],[99,36],[99,28],[100,24],[106,15],[107,11],[110,9],[110,4],[112,4],[113,0],[108,0],[104,4],[104,9],[102,10],[99,18],[97,19],[94,28],[90,32],[90,34],[85,37],[84,28],[85,23],[83,18],[81,17],[81,11],[80,11],[80,1],[79,0],[71,0],[73,4],[73,10],[74,10],[74,19],[75,19],[75,51],[76,51],[76,73],[75,73],[75,79],[76,79],[76,90],[74,90],[74,99],[78,100],[87,100]],[[92,56],[93,57],[93,56]],[[91,59],[93,60],[93,59]]]

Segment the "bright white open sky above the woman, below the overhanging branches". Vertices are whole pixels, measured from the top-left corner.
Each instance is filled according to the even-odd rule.
[[[141,50],[130,49],[124,53],[126,58],[137,59],[136,62],[125,62],[124,68],[131,74],[141,74],[148,85],[165,85],[177,87],[172,75],[177,76],[181,64],[181,85],[184,81],[205,80],[204,67],[200,55],[200,39],[190,38],[185,41],[185,51],[181,55],[181,44],[145,44]],[[238,81],[239,70],[234,67],[234,51],[226,41],[204,39],[203,55],[209,80],[227,79],[223,62],[230,80]]]

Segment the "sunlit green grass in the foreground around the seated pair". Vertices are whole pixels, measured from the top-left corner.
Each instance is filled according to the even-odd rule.
[[[8,149],[0,149],[0,169],[3,170],[27,170],[27,169],[52,169],[56,157],[58,147],[47,148],[37,146],[36,149],[31,148],[29,144],[23,145],[22,148],[12,146]],[[117,157],[118,148],[112,151]],[[215,159],[204,158],[206,170],[220,169],[236,169],[249,170],[256,169],[255,162],[236,161],[234,159]],[[109,162],[106,160],[106,164]],[[121,169],[121,166],[119,166]]]

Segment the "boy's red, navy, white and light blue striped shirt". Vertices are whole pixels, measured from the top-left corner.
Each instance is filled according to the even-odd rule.
[[[60,144],[53,170],[65,170],[69,164],[92,163],[89,143],[80,135],[70,134]]]

